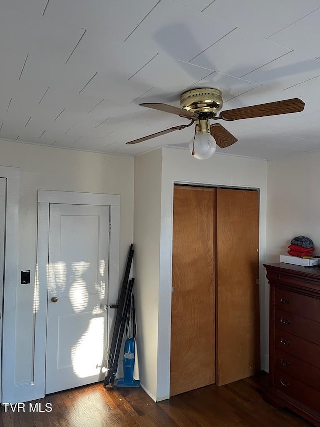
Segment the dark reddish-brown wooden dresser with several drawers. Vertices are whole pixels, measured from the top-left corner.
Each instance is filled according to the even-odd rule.
[[[320,268],[264,264],[270,284],[265,400],[320,427]]]

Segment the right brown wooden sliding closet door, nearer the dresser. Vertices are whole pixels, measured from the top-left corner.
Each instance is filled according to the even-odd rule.
[[[217,189],[217,383],[260,370],[257,191]]]

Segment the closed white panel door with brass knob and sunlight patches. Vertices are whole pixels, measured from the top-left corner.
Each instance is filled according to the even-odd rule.
[[[46,393],[104,379],[109,219],[109,206],[50,204]]]

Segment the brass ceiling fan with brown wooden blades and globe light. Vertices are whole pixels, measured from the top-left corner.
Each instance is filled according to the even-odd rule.
[[[169,132],[187,128],[195,123],[195,133],[190,142],[190,151],[192,156],[197,159],[208,159],[211,157],[215,152],[216,144],[220,148],[226,148],[237,142],[237,138],[222,125],[219,123],[210,124],[211,119],[233,121],[252,117],[296,113],[304,109],[304,102],[302,100],[292,98],[225,110],[217,115],[223,106],[222,93],[218,89],[213,88],[192,89],[184,92],[181,95],[180,108],[162,103],[144,103],[140,105],[142,107],[177,114],[180,117],[189,119],[191,123],[188,125],[173,126],[164,131],[129,141],[126,144],[137,144],[138,142],[146,141]]]

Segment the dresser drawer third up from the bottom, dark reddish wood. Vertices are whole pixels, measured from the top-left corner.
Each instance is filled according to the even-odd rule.
[[[275,329],[275,348],[320,368],[320,345]]]

